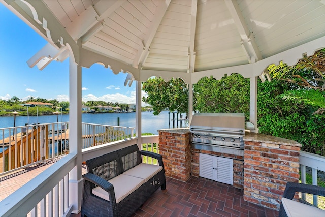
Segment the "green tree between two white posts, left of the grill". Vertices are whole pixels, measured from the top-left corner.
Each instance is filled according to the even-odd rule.
[[[162,78],[150,78],[143,82],[142,89],[148,95],[142,101],[152,106],[154,115],[159,115],[165,108],[171,112],[188,113],[188,89],[180,78],[167,82]]]

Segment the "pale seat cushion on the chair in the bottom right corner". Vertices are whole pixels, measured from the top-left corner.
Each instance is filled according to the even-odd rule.
[[[295,216],[325,216],[325,210],[298,201],[282,198],[282,205],[288,217]]]

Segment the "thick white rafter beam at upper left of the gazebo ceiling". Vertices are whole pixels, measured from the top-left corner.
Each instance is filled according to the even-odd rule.
[[[66,27],[67,32],[74,40],[83,38],[83,42],[96,34],[102,27],[104,19],[120,7],[126,0],[102,0],[80,14]]]

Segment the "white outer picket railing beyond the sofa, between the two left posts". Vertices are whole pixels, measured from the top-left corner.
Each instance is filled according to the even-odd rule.
[[[134,128],[82,123],[82,148],[133,137]]]

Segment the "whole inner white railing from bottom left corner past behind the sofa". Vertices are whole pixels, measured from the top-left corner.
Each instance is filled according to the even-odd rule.
[[[153,147],[158,135],[142,137],[142,146]],[[137,143],[137,138],[128,138],[82,150],[82,161],[101,156]],[[156,150],[156,149],[154,149]],[[0,216],[69,216],[73,201],[78,200],[70,188],[70,173],[76,167],[76,155],[67,154],[44,172],[36,176],[0,203]],[[81,197],[82,192],[79,192]]]

